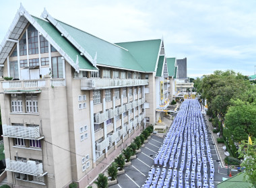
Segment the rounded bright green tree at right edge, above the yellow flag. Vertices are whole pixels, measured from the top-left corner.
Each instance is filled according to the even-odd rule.
[[[241,142],[248,135],[256,137],[256,102],[248,103],[241,99],[231,100],[224,124],[232,139]]]

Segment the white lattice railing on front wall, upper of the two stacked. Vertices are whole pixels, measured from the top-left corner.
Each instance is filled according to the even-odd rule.
[[[7,126],[3,125],[3,136],[13,136],[17,138],[39,138],[39,127]]]

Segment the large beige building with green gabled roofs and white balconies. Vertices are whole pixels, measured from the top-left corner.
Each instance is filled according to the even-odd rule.
[[[22,5],[0,67],[7,181],[15,187],[86,187],[156,122],[173,93],[162,39],[112,44]]]

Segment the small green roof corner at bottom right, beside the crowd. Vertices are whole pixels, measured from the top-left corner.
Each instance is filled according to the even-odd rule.
[[[217,188],[248,188],[254,187],[251,183],[244,180],[245,173],[239,173],[226,181],[217,184]]]

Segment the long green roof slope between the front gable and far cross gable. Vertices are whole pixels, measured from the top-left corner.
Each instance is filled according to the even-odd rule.
[[[97,52],[97,64],[145,72],[128,50],[106,42],[73,26],[69,26],[67,23],[57,21],[92,58],[94,58]]]

